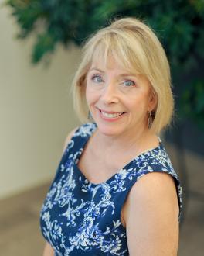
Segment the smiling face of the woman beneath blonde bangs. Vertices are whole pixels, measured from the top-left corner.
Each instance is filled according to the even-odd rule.
[[[155,106],[148,79],[121,69],[113,59],[108,65],[93,61],[87,73],[87,105],[100,132],[114,136],[147,130],[148,111]]]

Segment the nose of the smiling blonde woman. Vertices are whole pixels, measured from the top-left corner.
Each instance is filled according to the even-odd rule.
[[[116,85],[114,83],[107,84],[101,92],[100,99],[106,104],[118,102]]]

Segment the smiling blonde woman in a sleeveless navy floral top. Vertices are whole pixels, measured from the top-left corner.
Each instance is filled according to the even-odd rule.
[[[177,255],[182,187],[158,136],[174,106],[162,45],[124,18],[83,50],[73,79],[83,124],[66,138],[41,209],[44,256]]]

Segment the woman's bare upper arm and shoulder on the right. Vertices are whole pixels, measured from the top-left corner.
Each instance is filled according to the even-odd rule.
[[[158,171],[139,178],[124,213],[130,255],[177,255],[179,202],[172,175]]]

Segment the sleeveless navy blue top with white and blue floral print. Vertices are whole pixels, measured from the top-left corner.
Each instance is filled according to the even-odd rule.
[[[134,157],[106,182],[94,184],[83,175],[77,162],[96,129],[96,123],[85,123],[73,134],[40,210],[42,235],[55,256],[129,255],[121,209],[134,183],[153,171],[172,175],[180,222],[182,186],[162,140],[158,137],[158,147]]]

